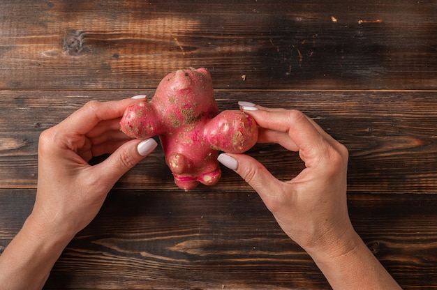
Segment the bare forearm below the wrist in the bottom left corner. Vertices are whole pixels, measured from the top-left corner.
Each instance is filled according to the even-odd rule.
[[[59,236],[29,216],[0,256],[1,289],[41,289],[73,236]]]

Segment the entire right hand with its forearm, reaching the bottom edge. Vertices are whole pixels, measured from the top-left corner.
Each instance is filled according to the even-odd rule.
[[[260,125],[258,143],[297,151],[306,168],[289,181],[279,181],[248,155],[226,153],[218,160],[258,192],[279,226],[308,252],[333,289],[401,289],[350,222],[346,147],[302,112],[242,105]]]

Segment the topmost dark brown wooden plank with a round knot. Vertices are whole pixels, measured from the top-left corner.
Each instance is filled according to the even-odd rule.
[[[0,89],[154,89],[190,66],[217,89],[437,88],[434,1],[3,0],[0,19]]]

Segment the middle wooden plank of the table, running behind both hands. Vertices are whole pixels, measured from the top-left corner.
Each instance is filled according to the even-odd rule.
[[[117,100],[138,93],[153,96],[153,91],[34,91],[30,96],[27,91],[1,91],[0,188],[36,187],[36,149],[42,130],[89,100]],[[237,109],[237,100],[250,100],[266,107],[300,109],[316,119],[350,151],[350,191],[437,192],[434,92],[217,90],[216,99],[221,110]],[[297,154],[281,146],[258,144],[249,154],[281,180],[302,169]],[[161,148],[121,178],[117,188],[175,190]],[[228,169],[211,188],[237,189],[248,190],[249,185]]]

